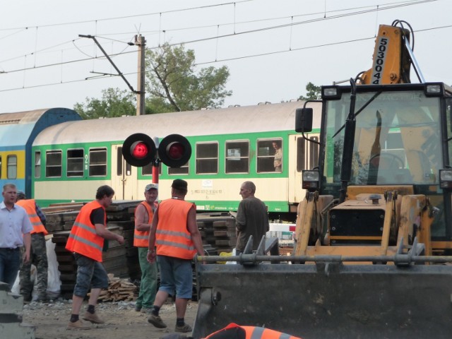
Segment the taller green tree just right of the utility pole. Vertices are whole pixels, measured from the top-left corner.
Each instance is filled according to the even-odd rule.
[[[225,90],[229,69],[210,66],[195,72],[195,54],[184,45],[163,44],[146,51],[146,105],[151,112],[218,108],[232,91]]]

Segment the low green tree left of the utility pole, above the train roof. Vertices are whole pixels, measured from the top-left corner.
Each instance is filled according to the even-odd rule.
[[[136,115],[136,95],[129,90],[107,88],[102,90],[102,99],[87,97],[84,104],[76,103],[73,109],[83,119]]]

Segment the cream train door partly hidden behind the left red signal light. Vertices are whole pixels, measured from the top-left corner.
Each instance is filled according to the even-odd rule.
[[[138,167],[124,160],[122,145],[112,145],[112,189],[114,200],[137,199]]]

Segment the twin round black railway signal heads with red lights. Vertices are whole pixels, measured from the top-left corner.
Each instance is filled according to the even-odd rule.
[[[122,145],[122,155],[126,162],[136,167],[143,167],[157,160],[168,167],[181,167],[189,161],[191,145],[184,136],[170,134],[160,141],[158,149],[150,136],[135,133],[126,138]]]

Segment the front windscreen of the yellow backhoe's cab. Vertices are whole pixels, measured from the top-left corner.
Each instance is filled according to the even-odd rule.
[[[358,93],[350,184],[436,184],[442,167],[439,99],[419,92]],[[350,98],[327,106],[324,175],[340,181],[344,129]]]

